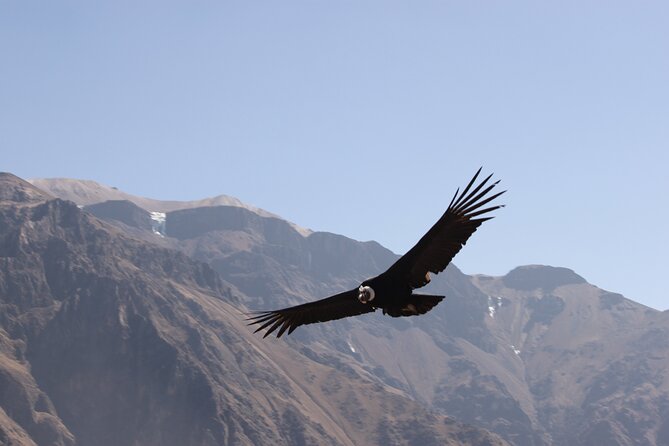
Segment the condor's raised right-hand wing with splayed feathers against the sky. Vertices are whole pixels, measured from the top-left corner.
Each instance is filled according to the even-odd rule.
[[[427,285],[430,281],[428,274],[443,271],[467,243],[467,239],[476,228],[484,221],[493,218],[482,216],[503,205],[481,208],[506,191],[488,196],[499,183],[496,181],[486,187],[492,175],[472,189],[479,173],[481,169],[476,172],[462,193],[458,195],[459,189],[455,192],[451,204],[439,221],[416,243],[416,246],[388,268],[384,275],[405,280],[414,289]]]

